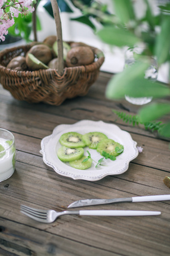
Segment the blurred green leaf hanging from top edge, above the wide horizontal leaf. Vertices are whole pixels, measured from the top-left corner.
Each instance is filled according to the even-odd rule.
[[[131,19],[135,18],[133,4],[127,0],[113,0],[114,11],[122,23],[128,23]]]

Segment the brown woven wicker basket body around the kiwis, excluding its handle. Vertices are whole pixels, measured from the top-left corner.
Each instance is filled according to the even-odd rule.
[[[56,69],[15,71],[6,68],[13,57],[25,56],[29,48],[31,44],[0,52],[0,82],[14,98],[31,103],[45,102],[50,105],[60,105],[66,98],[85,96],[97,79],[99,69],[104,62],[102,52],[92,47],[96,55],[94,63],[65,68],[62,76],[58,75]]]

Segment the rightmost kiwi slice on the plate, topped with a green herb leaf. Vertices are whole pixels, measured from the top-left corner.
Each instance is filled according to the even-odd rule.
[[[109,155],[117,156],[122,153],[124,146],[120,143],[113,141],[113,139],[103,139],[97,144],[97,152],[102,155],[102,152],[105,151]]]

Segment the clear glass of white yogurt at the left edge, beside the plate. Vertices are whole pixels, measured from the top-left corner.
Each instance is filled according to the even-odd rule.
[[[0,129],[0,181],[8,179],[15,170],[16,149],[14,135]]]

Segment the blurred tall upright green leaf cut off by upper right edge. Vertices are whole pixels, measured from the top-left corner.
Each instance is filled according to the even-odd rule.
[[[170,51],[170,33],[169,33],[170,16],[164,15],[160,26],[160,33],[156,37],[155,55],[158,64],[167,61]]]

